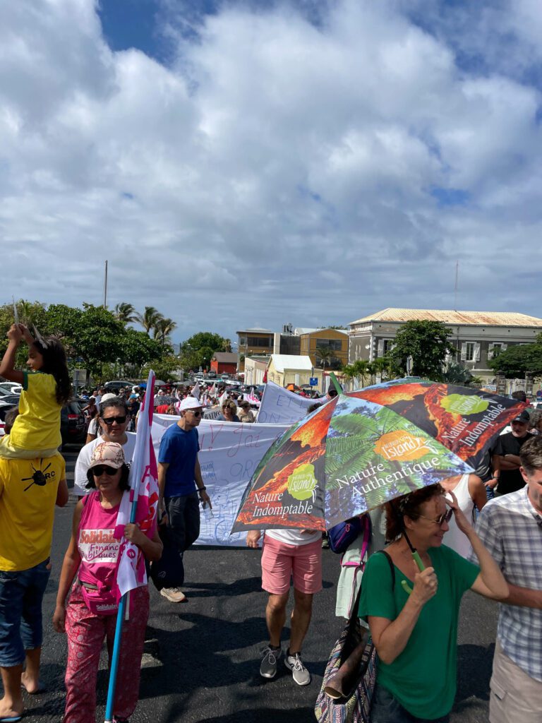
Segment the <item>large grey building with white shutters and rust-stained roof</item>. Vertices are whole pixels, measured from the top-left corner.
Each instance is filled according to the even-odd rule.
[[[393,346],[395,334],[408,321],[439,321],[450,330],[455,359],[476,377],[493,378],[488,361],[513,344],[529,344],[542,332],[542,319],[516,312],[465,312],[446,309],[382,309],[350,322],[350,364],[374,361]]]

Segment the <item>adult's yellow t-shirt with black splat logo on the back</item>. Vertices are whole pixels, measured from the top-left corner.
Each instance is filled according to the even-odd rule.
[[[61,455],[0,458],[0,570],[28,570],[51,555]]]

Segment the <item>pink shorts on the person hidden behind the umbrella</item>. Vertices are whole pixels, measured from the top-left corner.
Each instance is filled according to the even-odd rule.
[[[290,580],[299,592],[314,594],[322,590],[322,540],[309,544],[286,544],[264,537],[262,552],[262,588],[272,595],[283,595]]]

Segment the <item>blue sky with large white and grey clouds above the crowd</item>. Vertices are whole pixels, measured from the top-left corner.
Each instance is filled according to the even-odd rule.
[[[0,4],[0,303],[542,316],[539,0]]]

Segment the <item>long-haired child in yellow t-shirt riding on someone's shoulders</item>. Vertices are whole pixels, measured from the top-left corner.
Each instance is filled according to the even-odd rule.
[[[12,324],[0,376],[22,385],[19,416],[12,432],[0,440],[0,457],[34,459],[57,454],[62,444],[60,410],[71,390],[66,353],[54,337],[34,339],[25,325]],[[28,372],[14,368],[22,339],[28,344]],[[35,373],[35,372],[39,372]]]

